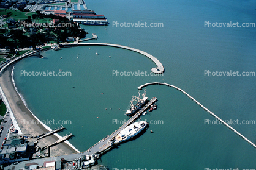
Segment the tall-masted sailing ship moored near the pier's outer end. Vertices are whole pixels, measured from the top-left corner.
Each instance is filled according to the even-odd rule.
[[[134,113],[138,112],[147,102],[148,97],[146,97],[146,89],[142,93],[142,99],[140,98],[140,91],[138,91],[138,97],[132,96],[132,100],[130,101],[130,109],[126,111],[127,116],[132,116]],[[134,102],[137,102],[134,104]]]

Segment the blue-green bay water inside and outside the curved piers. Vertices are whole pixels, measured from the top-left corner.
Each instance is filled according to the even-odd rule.
[[[149,73],[155,65],[136,52],[104,46],[50,50],[41,53],[45,59],[18,62],[14,79],[28,107],[41,120],[72,121],[60,134],[75,135],[69,141],[78,150],[85,151],[118,129],[121,125],[113,120],[127,120],[123,114],[130,97],[148,82],[176,85],[224,120],[256,121],[255,76],[204,76],[205,70],[256,71],[255,28],[203,26],[204,21],[255,22],[254,1],[88,1],[86,5],[110,23],[164,23],[158,28],[83,27],[88,38],[92,33],[99,36],[89,42],[122,44],[154,55],[165,73],[113,76],[113,70]],[[20,76],[21,70],[59,69],[72,76]],[[256,168],[254,147],[223,125],[205,125],[205,119],[215,119],[183,93],[161,85],[146,87],[146,93],[157,97],[159,107],[141,119],[164,124],[150,124],[154,133],[147,131],[121,144],[100,163],[110,169]],[[255,124],[232,127],[256,142]]]

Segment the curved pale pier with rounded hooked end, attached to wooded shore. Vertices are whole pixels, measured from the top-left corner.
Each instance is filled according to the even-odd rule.
[[[141,51],[140,49],[135,49],[135,48],[131,48],[128,46],[122,46],[122,45],[118,45],[118,44],[110,44],[110,43],[60,43],[61,46],[111,46],[111,47],[116,47],[116,48],[123,48],[123,49],[128,49],[130,51],[135,51],[138,52],[142,55],[145,55],[146,57],[148,57],[150,60],[152,60],[152,62],[154,62],[156,64],[156,68],[151,68],[151,71],[153,73],[156,74],[162,74],[164,73],[164,66],[162,65],[161,62],[159,62],[159,60],[157,60],[156,57],[154,57],[151,54],[148,54],[147,52]]]

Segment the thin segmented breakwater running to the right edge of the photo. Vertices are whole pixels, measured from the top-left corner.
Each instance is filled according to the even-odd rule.
[[[201,108],[203,108],[206,112],[208,112],[210,115],[214,116],[214,118],[216,118],[218,121],[222,122],[222,124],[224,124],[225,126],[227,126],[230,130],[232,130],[233,132],[236,133],[236,135],[240,136],[241,138],[243,138],[245,141],[247,141],[247,143],[249,143],[250,145],[252,145],[254,148],[256,148],[256,145],[254,143],[252,143],[252,141],[248,140],[245,136],[243,136],[241,133],[239,133],[238,131],[236,131],[233,127],[231,127],[230,125],[228,125],[225,121],[223,121],[222,119],[220,119],[218,116],[216,116],[213,112],[211,112],[210,110],[208,110],[208,108],[204,107],[202,104],[200,104],[200,102],[198,102],[197,100],[195,100],[193,97],[191,97],[189,94],[186,93],[186,91],[182,90],[181,88],[178,88],[174,85],[170,85],[167,83],[159,83],[159,82],[153,82],[153,83],[146,83],[144,85],[141,85],[138,87],[138,90],[141,90],[143,87],[146,87],[148,85],[166,85],[168,87],[172,87],[175,88],[179,91],[181,91],[182,93],[184,93],[187,97],[189,97],[192,101],[194,101],[195,103],[197,103]]]

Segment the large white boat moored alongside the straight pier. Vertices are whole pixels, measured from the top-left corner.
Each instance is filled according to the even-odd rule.
[[[146,121],[140,121],[140,122],[134,122],[133,124],[130,124],[123,130],[121,130],[118,135],[115,137],[114,143],[120,143],[122,141],[129,140],[130,138],[133,138],[135,135],[140,133],[148,124]]]

